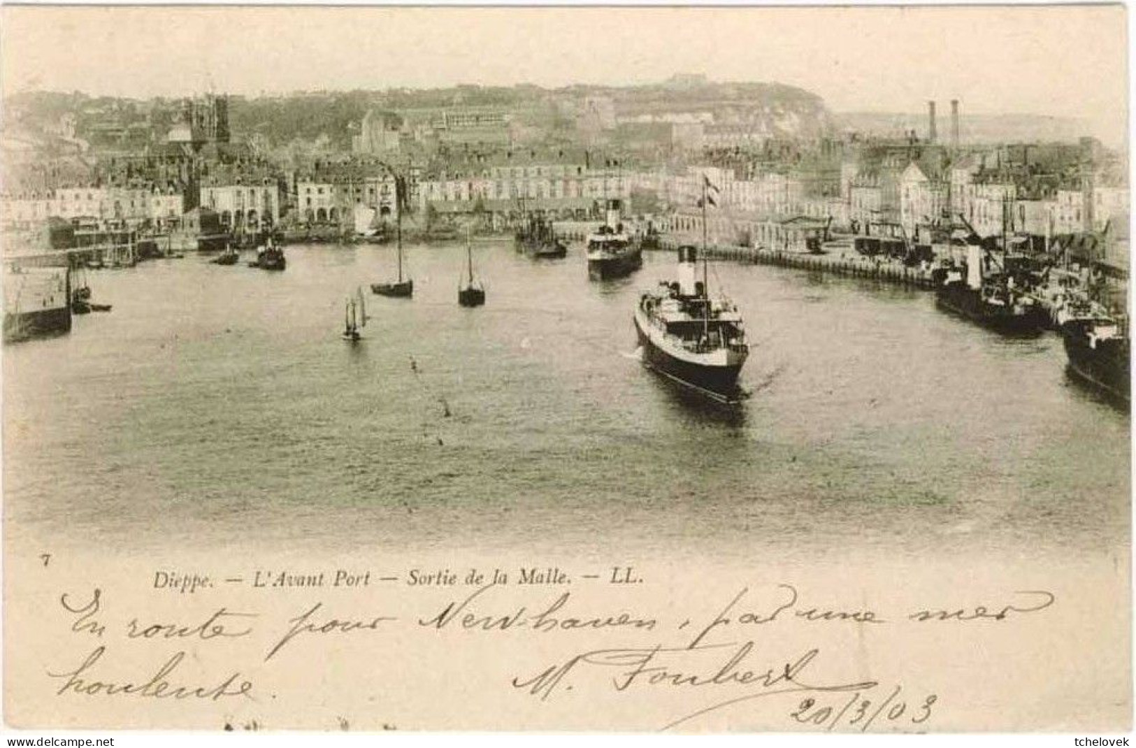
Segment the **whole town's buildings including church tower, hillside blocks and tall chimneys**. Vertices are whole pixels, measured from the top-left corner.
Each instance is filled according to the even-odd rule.
[[[585,103],[586,116],[603,128],[618,126],[610,101]],[[669,124],[708,124],[696,114]],[[507,225],[526,211],[594,219],[607,200],[619,198],[628,213],[671,216],[676,230],[701,233],[698,203],[708,183],[713,208],[707,230],[716,240],[786,241],[825,226],[852,233],[887,227],[919,241],[958,222],[983,236],[1053,236],[1127,223],[1125,165],[1095,141],[963,148],[957,102],[951,115],[945,143],[932,108],[925,136],[763,136],[751,147],[708,147],[698,158],[667,159],[578,146],[519,148],[486,135],[516,123],[485,107],[373,111],[352,153],[285,163],[233,142],[227,99],[206,97],[181,103],[165,142],[98,161],[89,184],[2,196],[2,223],[58,217],[160,226],[203,208],[233,232],[282,223],[365,231],[403,213],[454,219],[488,214],[493,225]],[[450,141],[428,153],[404,150],[415,133]],[[43,176],[45,184],[60,178],[57,172]]]

